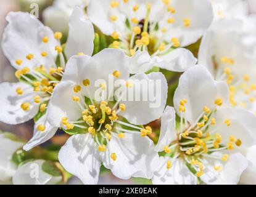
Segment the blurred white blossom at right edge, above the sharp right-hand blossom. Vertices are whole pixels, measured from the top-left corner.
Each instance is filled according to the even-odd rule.
[[[207,30],[199,49],[199,63],[205,65],[217,81],[229,86],[231,105],[255,113],[256,36],[243,20],[219,20]]]

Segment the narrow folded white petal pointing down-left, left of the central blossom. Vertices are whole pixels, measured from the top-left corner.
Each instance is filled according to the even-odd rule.
[[[51,126],[46,119],[47,115],[43,115],[41,118],[38,119],[38,121],[36,121],[33,137],[25,144],[25,146],[23,147],[24,150],[28,151],[31,148],[34,148],[41,143],[46,142],[54,136],[58,127]],[[46,129],[44,131],[38,131],[37,127],[39,124],[46,126]]]

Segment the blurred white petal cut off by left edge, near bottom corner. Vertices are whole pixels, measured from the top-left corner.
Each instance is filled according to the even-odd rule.
[[[6,182],[14,175],[16,166],[10,159],[16,150],[23,146],[22,142],[15,142],[0,134],[0,181]]]

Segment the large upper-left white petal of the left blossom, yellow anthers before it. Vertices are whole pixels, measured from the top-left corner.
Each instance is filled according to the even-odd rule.
[[[54,65],[57,54],[54,47],[57,41],[54,39],[52,30],[39,22],[34,15],[26,12],[10,12],[6,20],[9,24],[3,34],[2,49],[12,66],[19,69],[15,60],[22,59],[22,65],[34,68],[39,66],[35,60],[27,60],[26,55],[33,54],[46,68]],[[42,38],[47,36],[49,41],[44,43]],[[41,52],[46,51],[49,55],[42,57]],[[51,54],[51,55],[50,55]]]

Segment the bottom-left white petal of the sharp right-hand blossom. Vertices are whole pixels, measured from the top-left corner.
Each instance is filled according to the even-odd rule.
[[[183,159],[174,159],[171,169],[167,169],[168,157],[160,157],[158,171],[154,173],[154,185],[196,185],[197,177],[189,171]]]

